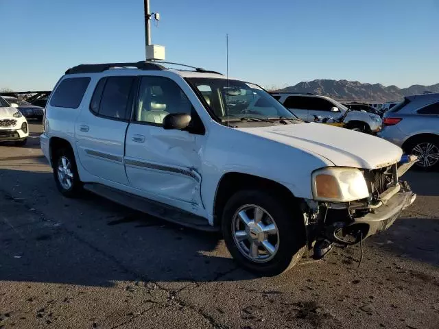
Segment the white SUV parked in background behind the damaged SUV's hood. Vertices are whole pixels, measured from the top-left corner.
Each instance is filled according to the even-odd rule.
[[[272,93],[285,108],[305,121],[324,121],[324,119],[340,119],[348,108],[342,103],[326,96],[313,94]],[[360,132],[379,132],[381,117],[377,114],[351,111],[344,117],[345,127]]]

